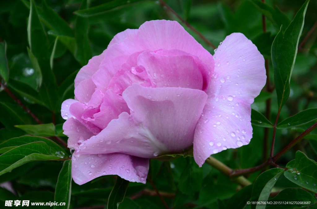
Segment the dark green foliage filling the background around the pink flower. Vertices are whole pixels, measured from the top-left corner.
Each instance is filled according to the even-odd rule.
[[[251,106],[250,144],[212,157],[232,169],[251,168],[267,160],[263,135],[270,145],[278,112],[274,154],[317,122],[317,32],[309,32],[316,21],[316,1],[165,3],[215,46],[226,35],[243,33],[269,63],[271,89],[264,88]],[[54,206],[63,209],[317,208],[317,129],[275,162],[281,168],[270,165],[245,175],[251,183],[246,187],[207,163],[199,168],[191,149],[152,159],[146,184],[113,175],[84,185],[72,182],[72,153],[61,143],[67,141],[62,101],[74,98],[76,74],[115,34],[156,19],[183,24],[154,0],[0,1],[0,183],[9,182],[14,190],[0,187],[0,208],[6,200],[65,202]],[[267,118],[268,99],[272,106]],[[258,200],[310,204],[247,204]]]

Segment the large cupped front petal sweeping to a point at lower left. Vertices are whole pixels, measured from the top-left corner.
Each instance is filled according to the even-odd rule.
[[[185,88],[146,88],[133,84],[123,92],[131,116],[121,113],[98,135],[81,144],[81,154],[121,152],[152,158],[180,152],[192,145],[204,108],[204,91]],[[73,104],[74,105],[74,104]]]

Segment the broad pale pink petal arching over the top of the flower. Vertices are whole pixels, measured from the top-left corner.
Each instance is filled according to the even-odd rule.
[[[100,64],[100,70],[93,76],[96,86],[105,92],[109,77],[113,76],[134,53],[142,51],[180,50],[197,56],[207,66],[214,66],[212,55],[204,49],[176,21],[155,20],[145,22],[137,34],[127,36],[123,42],[108,47]],[[131,66],[133,67],[133,66]],[[105,83],[102,83],[105,81]]]

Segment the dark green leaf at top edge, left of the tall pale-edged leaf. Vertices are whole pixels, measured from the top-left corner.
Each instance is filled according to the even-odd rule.
[[[281,12],[277,7],[273,9],[267,3],[263,3],[260,0],[251,0],[253,5],[258,9],[263,15],[265,15],[274,25],[275,28],[280,29],[281,25],[285,28],[289,24],[288,17]]]

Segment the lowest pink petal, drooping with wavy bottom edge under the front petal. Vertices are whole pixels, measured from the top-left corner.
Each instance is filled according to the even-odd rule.
[[[119,175],[131,182],[146,183],[149,159],[121,153],[72,157],[72,177],[82,185],[102,175]]]

